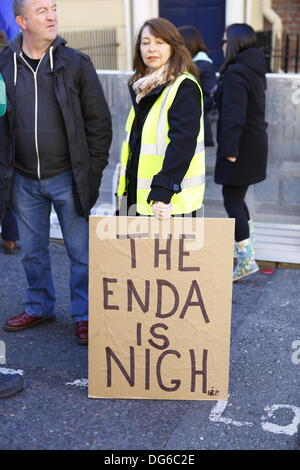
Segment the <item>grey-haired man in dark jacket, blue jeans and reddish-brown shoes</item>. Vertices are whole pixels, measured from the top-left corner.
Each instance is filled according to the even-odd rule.
[[[28,289],[7,331],[55,319],[49,258],[51,203],[70,258],[76,340],[88,341],[88,215],[111,144],[110,113],[85,54],[57,34],[54,0],[14,0],[21,34],[0,54],[8,96],[1,119],[0,183],[17,215]],[[13,178],[12,178],[13,175]],[[0,186],[1,191],[1,186]]]

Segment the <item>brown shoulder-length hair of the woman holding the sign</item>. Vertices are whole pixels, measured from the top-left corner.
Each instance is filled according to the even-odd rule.
[[[191,55],[184,45],[182,36],[177,28],[170,21],[164,18],[152,18],[145,21],[141,27],[134,48],[133,69],[134,75],[130,78],[130,82],[134,82],[143,77],[147,72],[147,67],[143,62],[141,55],[141,39],[143,29],[148,26],[153,36],[161,38],[164,42],[171,46],[171,56],[169,59],[169,76],[178,77],[182,72],[190,72],[196,78],[199,77],[198,69],[193,63]],[[168,81],[168,77],[167,77]]]

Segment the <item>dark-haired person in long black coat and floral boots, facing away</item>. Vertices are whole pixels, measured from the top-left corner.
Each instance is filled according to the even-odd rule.
[[[233,280],[258,271],[254,231],[245,196],[249,185],[266,178],[268,139],[265,121],[267,72],[256,35],[247,24],[232,24],[224,34],[225,61],[216,92],[219,111],[215,182],[223,186],[224,206],[236,221],[237,263]]]

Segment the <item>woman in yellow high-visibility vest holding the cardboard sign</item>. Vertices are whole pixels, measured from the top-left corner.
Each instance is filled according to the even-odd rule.
[[[129,215],[195,213],[204,195],[204,127],[197,68],[175,26],[141,27],[129,81],[132,108],[121,151],[119,197]],[[123,212],[123,204],[120,213]],[[134,207],[134,209],[133,209]]]

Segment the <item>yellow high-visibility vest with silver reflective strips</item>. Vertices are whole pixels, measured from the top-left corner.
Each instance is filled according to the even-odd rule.
[[[174,83],[168,85],[162,94],[155,101],[145,120],[142,138],[141,151],[137,173],[137,194],[136,211],[142,215],[152,215],[151,205],[147,203],[147,198],[151,190],[153,177],[159,173],[163,167],[163,161],[167,146],[170,142],[168,137],[169,123],[168,111],[174,101],[176,93],[183,80],[193,80],[198,86],[195,77],[189,73],[180,75]],[[201,95],[201,121],[200,131],[197,137],[195,154],[190,162],[189,168],[181,182],[182,191],[172,196],[172,214],[188,214],[202,206],[205,188],[205,147],[204,147],[204,120],[203,120],[203,95]],[[187,110],[189,112],[189,110]],[[132,107],[125,126],[126,137],[122,143],[120,157],[120,178],[117,195],[122,197],[126,192],[127,179],[126,167],[129,158],[129,138],[135,117]]]

